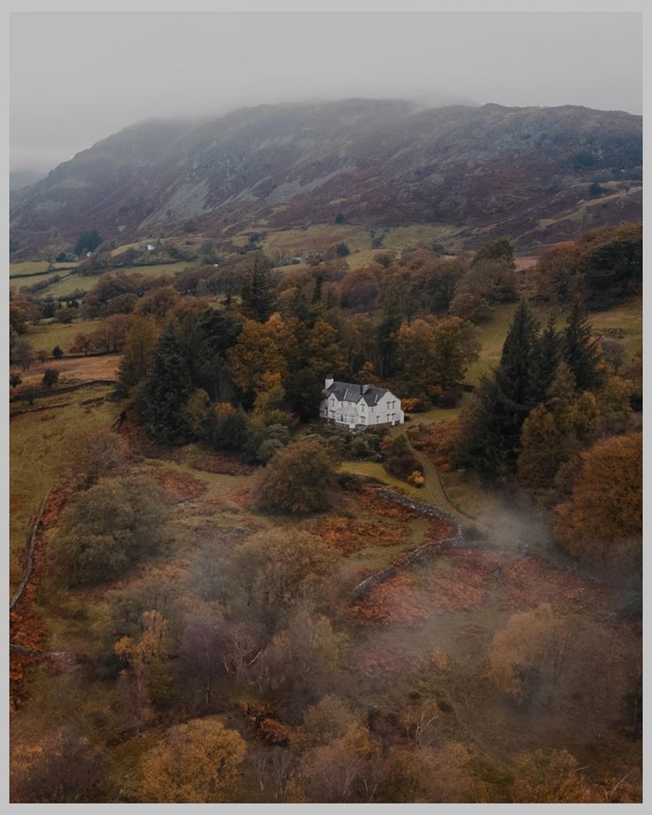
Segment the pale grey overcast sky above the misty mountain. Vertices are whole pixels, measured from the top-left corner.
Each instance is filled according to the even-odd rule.
[[[11,164],[138,120],[307,98],[641,112],[637,13],[15,13]]]

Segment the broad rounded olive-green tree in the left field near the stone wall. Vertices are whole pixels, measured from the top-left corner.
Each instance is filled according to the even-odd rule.
[[[159,486],[136,476],[104,478],[78,493],[52,547],[59,576],[69,586],[101,583],[157,551],[165,539],[166,506]]]

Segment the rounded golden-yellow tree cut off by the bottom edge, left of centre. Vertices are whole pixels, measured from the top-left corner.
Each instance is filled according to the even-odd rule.
[[[246,745],[215,719],[170,727],[145,753],[138,797],[149,803],[221,803],[237,794]]]

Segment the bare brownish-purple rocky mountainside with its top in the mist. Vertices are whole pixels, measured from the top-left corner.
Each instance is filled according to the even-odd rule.
[[[122,130],[12,194],[12,257],[71,243],[208,237],[332,223],[446,224],[455,248],[506,235],[519,251],[641,211],[641,119],[576,106],[400,100],[260,105]]]

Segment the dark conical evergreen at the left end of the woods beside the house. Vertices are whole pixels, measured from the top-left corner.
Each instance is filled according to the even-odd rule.
[[[190,395],[190,375],[171,325],[151,357],[139,402],[147,435],[161,444],[182,444],[189,437],[183,407]]]

